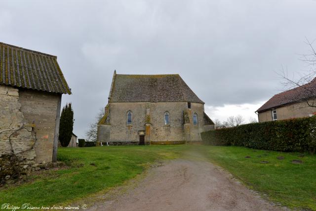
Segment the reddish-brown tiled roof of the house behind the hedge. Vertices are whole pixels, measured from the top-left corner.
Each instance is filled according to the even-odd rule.
[[[304,101],[311,97],[316,97],[316,78],[308,84],[274,95],[270,100],[263,104],[257,112],[263,112],[287,104]]]

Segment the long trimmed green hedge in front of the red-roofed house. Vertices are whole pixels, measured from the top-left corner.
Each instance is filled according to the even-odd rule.
[[[316,117],[253,123],[210,130],[202,132],[201,137],[203,142],[210,145],[315,153]]]

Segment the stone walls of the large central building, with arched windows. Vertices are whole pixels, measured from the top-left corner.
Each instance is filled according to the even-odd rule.
[[[201,141],[200,132],[204,131],[202,103],[186,102],[131,102],[109,103],[110,125],[98,125],[98,141],[138,143],[140,133],[145,133],[146,144],[150,142],[190,142]],[[132,124],[127,124],[127,112],[132,112]],[[164,124],[164,114],[169,112],[170,124]],[[184,111],[188,111],[190,123],[184,125]],[[198,124],[193,124],[197,113]],[[207,127],[208,128],[208,127]]]

